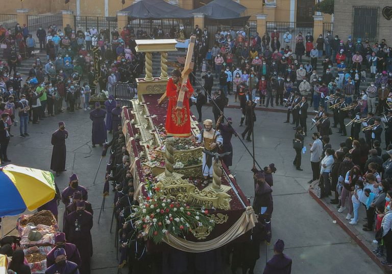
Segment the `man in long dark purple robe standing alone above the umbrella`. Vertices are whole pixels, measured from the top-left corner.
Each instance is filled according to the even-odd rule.
[[[68,131],[65,130],[64,122],[59,122],[59,129],[52,134],[52,161],[51,169],[56,171],[56,176],[60,172],[66,171],[65,158],[67,156],[67,149],[65,147],[65,139],[68,138]]]

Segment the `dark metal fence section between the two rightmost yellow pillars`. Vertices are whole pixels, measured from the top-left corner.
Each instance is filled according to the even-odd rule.
[[[271,33],[274,32],[274,29],[277,29],[279,32],[279,42],[281,48],[284,47],[284,39],[283,35],[288,31],[291,34],[291,42],[288,44],[292,51],[296,49],[296,36],[301,32],[302,36],[304,37],[304,45],[305,45],[305,36],[309,32],[310,35],[313,35],[313,28],[312,27],[303,27],[306,24],[302,24],[300,22],[272,22],[267,21],[267,32],[269,36]],[[260,34],[262,36],[263,34]],[[318,34],[317,34],[318,35]],[[314,39],[316,39],[313,36]]]

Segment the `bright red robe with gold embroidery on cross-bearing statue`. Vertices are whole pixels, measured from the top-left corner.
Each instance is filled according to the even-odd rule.
[[[186,87],[188,88],[188,92],[185,93],[183,107],[177,109],[179,86],[177,86],[171,78],[167,82],[166,96],[169,99],[165,123],[167,135],[177,137],[189,137],[191,135],[189,98],[193,94],[193,87],[189,80],[186,83]]]

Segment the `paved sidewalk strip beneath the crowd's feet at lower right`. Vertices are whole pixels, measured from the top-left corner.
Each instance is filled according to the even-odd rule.
[[[376,254],[372,252],[373,249],[377,248],[377,245],[373,243],[375,240],[375,232],[373,231],[363,231],[362,224],[365,223],[363,218],[366,217],[364,207],[361,205],[358,211],[358,224],[351,225],[349,221],[346,220],[346,215],[348,213],[348,206],[346,205],[346,210],[342,213],[338,213],[336,209],[336,204],[330,204],[328,198],[318,198],[314,188],[317,186],[318,180],[313,181],[309,187],[310,196],[321,205],[321,207],[332,217],[332,222],[341,226],[341,228],[363,249],[363,251],[371,258],[385,273],[392,273],[392,267],[384,266],[381,261],[386,259],[386,251],[384,248],[384,256],[378,258]],[[350,201],[351,202],[351,201]]]

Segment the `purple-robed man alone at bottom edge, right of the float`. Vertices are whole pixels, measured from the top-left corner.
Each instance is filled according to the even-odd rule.
[[[284,242],[278,239],[274,244],[274,257],[269,260],[263,274],[290,274],[292,260],[283,254]]]

